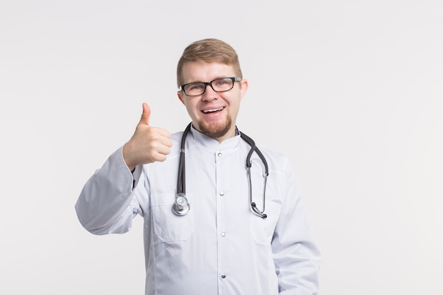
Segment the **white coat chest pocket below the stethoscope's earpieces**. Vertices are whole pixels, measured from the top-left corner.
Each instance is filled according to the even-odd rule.
[[[265,219],[251,213],[251,236],[255,243],[270,245],[277,225],[282,205],[273,200],[266,200]]]

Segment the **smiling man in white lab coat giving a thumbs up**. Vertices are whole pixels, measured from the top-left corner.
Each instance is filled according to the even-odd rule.
[[[144,103],[130,141],[84,186],[81,224],[125,233],[144,217],[149,295],[318,294],[320,254],[289,161],[254,149],[236,127],[248,90],[236,52],[220,40],[192,43],[177,82],[187,135],[149,125]]]

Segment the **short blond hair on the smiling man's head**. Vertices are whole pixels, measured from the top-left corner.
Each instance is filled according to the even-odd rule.
[[[177,86],[183,85],[183,65],[187,62],[220,62],[234,67],[236,76],[243,78],[238,55],[231,45],[214,38],[195,41],[183,51],[177,64]]]

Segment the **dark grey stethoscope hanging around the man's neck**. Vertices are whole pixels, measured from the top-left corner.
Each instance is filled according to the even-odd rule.
[[[177,195],[176,195],[176,202],[172,206],[173,212],[180,216],[188,214],[190,210],[190,204],[185,194],[185,140],[186,136],[190,132],[191,125],[192,122],[188,125],[188,127],[186,127],[181,138],[180,160],[178,163]],[[269,175],[269,170],[267,168],[267,161],[265,156],[263,156],[261,151],[258,149],[258,147],[255,146],[255,142],[253,141],[253,139],[251,139],[251,137],[248,137],[243,132],[240,132],[240,137],[251,146],[248,156],[246,156],[246,168],[248,169],[248,180],[249,180],[249,202],[251,203],[251,208],[253,212],[256,215],[260,216],[261,218],[265,219],[267,217],[267,215],[265,214],[266,181],[267,181],[267,175]],[[253,202],[252,200],[251,156],[254,151],[256,154],[258,154],[260,160],[263,162],[263,165],[265,166],[265,175],[263,175],[265,178],[264,180],[265,185],[263,187],[263,210],[261,211],[260,209],[258,209],[257,204],[255,204],[255,202]]]

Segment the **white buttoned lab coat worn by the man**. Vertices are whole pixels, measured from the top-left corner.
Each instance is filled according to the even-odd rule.
[[[164,162],[137,166],[122,148],[88,180],[76,203],[91,233],[125,233],[144,217],[146,295],[312,295],[320,253],[288,159],[259,146],[267,159],[266,219],[253,214],[240,136],[219,143],[191,129],[185,143],[190,212],[172,212],[183,132]],[[264,166],[252,156],[253,201],[263,208]],[[134,181],[134,187],[133,187]]]

